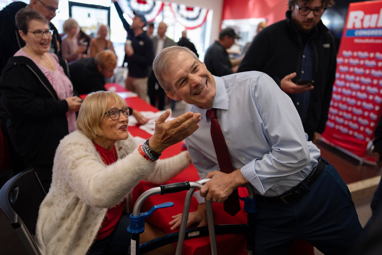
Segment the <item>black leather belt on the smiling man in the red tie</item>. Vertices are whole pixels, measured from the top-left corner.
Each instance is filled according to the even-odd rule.
[[[320,176],[322,170],[325,167],[325,161],[321,158],[318,159],[317,166],[312,170],[312,172],[302,181],[304,182],[308,187],[314,183],[314,181]],[[262,197],[261,198],[267,202],[284,202],[285,204],[288,204],[296,199],[299,199],[304,194],[306,194],[308,191],[304,188],[303,184],[298,184],[295,188],[291,189],[290,192],[287,194],[282,194],[277,197]]]

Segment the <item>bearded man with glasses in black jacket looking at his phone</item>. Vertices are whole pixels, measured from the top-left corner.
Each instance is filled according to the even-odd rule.
[[[325,130],[335,80],[335,42],[321,21],[334,0],[288,0],[288,5],[285,20],[256,35],[238,72],[261,71],[272,77],[290,96],[304,131],[316,143]]]

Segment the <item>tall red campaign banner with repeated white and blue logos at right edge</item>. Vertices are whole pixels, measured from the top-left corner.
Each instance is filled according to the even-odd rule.
[[[364,157],[374,139],[381,104],[382,1],[350,3],[322,137]]]

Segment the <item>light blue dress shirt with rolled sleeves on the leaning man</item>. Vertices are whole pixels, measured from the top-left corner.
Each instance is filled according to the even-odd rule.
[[[257,71],[214,76],[216,96],[212,108],[230,152],[233,167],[256,189],[272,197],[300,183],[317,165],[320,150],[307,141],[291,99],[272,78]],[[201,178],[219,170],[210,135],[208,109],[192,106],[201,114],[199,129],[186,138],[191,160]]]

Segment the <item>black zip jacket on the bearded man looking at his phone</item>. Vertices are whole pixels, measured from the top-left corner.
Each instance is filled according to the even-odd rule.
[[[322,133],[325,130],[337,65],[334,38],[322,21],[317,25],[317,35],[310,41],[310,46],[314,89],[310,93],[304,130],[309,140],[312,140],[314,132]],[[238,72],[264,72],[278,86],[286,75],[297,72],[293,79],[296,81],[299,79],[303,51],[300,33],[291,20],[291,11],[287,11],[286,19],[266,27],[256,35]]]

